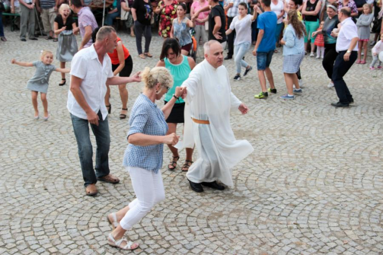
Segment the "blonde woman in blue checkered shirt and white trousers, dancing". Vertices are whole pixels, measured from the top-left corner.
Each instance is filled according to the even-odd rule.
[[[125,232],[142,219],[151,208],[164,200],[165,191],[160,169],[163,163],[164,144],[175,145],[179,136],[166,135],[166,118],[174,103],[182,95],[184,88],[177,87],[172,99],[162,109],[155,104],[173,86],[173,77],[164,67],[150,70],[146,67],[141,73],[145,84],[129,119],[129,145],[124,155],[124,166],[130,174],[136,199],[128,206],[108,215],[113,231],[108,236],[111,246],[134,250],[138,247],[124,237]]]

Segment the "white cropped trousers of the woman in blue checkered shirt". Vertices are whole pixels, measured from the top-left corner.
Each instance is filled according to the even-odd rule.
[[[121,228],[128,230],[150,212],[155,204],[165,199],[165,190],[160,171],[155,174],[153,171],[130,166],[126,170],[137,197],[129,204],[129,211],[120,221]]]

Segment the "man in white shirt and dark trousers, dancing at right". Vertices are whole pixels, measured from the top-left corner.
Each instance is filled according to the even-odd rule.
[[[339,32],[332,32],[333,36],[338,37],[336,39],[336,52],[338,52],[338,56],[334,63],[332,81],[334,82],[339,102],[333,102],[331,105],[335,107],[348,107],[350,103],[354,102],[354,99],[343,77],[357,58],[359,38],[357,27],[351,19],[351,9],[349,7],[340,9],[338,19],[341,22],[340,30]]]

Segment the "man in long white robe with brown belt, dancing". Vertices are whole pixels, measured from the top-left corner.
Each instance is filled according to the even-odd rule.
[[[248,111],[231,92],[229,75],[223,63],[223,49],[211,40],[204,45],[205,60],[195,66],[182,86],[183,97],[191,105],[194,142],[198,159],[186,175],[192,190],[203,186],[223,190],[232,187],[232,168],[254,149],[246,140],[236,140],[230,127],[230,111]]]

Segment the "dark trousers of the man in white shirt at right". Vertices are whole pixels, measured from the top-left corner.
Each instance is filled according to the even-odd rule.
[[[354,64],[357,58],[357,51],[351,52],[349,61],[344,61],[343,56],[345,53],[346,51],[339,51],[338,56],[335,59],[334,70],[332,72],[332,81],[334,82],[339,102],[349,103],[353,99],[353,96],[351,95],[343,77]]]

